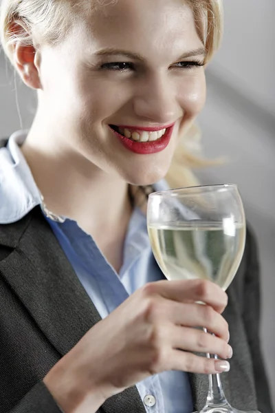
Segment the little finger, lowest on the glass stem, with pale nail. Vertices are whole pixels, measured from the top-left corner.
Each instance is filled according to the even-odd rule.
[[[199,357],[190,352],[174,350],[170,355],[171,370],[179,370],[197,374],[216,374],[228,372],[230,364],[228,361],[207,359]]]

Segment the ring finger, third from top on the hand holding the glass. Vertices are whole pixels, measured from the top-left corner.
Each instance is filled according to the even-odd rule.
[[[217,354],[222,359],[231,359],[233,350],[226,341],[195,328],[173,326],[172,346],[175,349]]]

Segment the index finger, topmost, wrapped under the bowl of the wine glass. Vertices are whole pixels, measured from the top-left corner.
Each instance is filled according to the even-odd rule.
[[[159,281],[146,284],[149,293],[157,293],[173,301],[201,301],[218,313],[228,304],[228,295],[216,284],[204,279]]]

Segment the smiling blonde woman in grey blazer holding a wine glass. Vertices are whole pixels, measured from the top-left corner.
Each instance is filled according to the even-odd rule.
[[[142,212],[203,107],[220,31],[219,0],[2,2],[38,109],[1,149],[1,412],[198,410],[205,374],[230,369],[228,323],[228,399],[271,412],[252,238],[228,304],[163,279]]]

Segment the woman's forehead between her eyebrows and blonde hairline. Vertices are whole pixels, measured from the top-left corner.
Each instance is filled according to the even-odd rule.
[[[182,53],[202,44],[184,0],[104,0],[84,19],[91,52],[117,47],[140,54]]]

